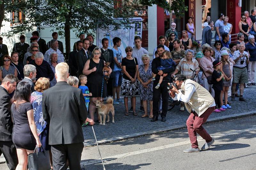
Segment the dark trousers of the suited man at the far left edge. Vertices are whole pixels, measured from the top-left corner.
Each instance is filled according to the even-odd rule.
[[[18,165],[18,156],[12,141],[0,141],[0,155],[3,153],[6,164],[10,170],[15,170]]]

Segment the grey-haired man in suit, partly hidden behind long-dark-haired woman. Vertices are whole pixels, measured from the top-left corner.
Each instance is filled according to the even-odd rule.
[[[28,82],[31,85],[31,93],[35,92],[35,85],[36,82],[36,66],[32,64],[27,64],[23,68],[24,78],[20,82]]]

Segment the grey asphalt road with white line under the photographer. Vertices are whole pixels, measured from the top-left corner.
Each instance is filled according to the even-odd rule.
[[[183,153],[190,147],[187,129],[100,145],[107,170],[256,169],[256,116],[205,125],[215,138],[207,151]],[[204,140],[198,137],[199,146]],[[85,147],[81,167],[102,170],[96,146]],[[6,164],[0,164],[7,170]]]

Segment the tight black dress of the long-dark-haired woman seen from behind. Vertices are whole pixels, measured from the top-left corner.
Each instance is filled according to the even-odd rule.
[[[36,147],[36,139],[28,123],[27,112],[29,110],[33,110],[33,106],[30,102],[20,104],[18,109],[15,107],[15,103],[12,103],[12,141],[16,148],[34,150]]]

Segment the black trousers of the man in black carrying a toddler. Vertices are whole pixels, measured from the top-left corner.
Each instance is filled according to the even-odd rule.
[[[167,108],[168,108],[168,89],[167,89],[167,83],[170,83],[171,80],[164,81],[161,83],[160,87],[156,89],[156,85],[158,84],[158,80],[154,81],[153,84],[153,115],[158,117],[158,111],[159,106],[158,102],[160,100],[160,97],[162,95],[162,114],[161,116],[166,116]]]

